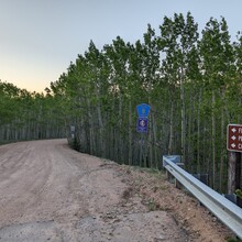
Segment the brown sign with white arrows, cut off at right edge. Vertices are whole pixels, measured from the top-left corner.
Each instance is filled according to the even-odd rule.
[[[227,131],[227,148],[233,152],[242,152],[242,125],[229,124]]]

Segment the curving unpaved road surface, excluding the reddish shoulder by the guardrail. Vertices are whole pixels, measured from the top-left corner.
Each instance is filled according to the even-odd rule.
[[[0,146],[0,241],[187,241],[164,211],[127,199],[125,174],[66,140]]]

